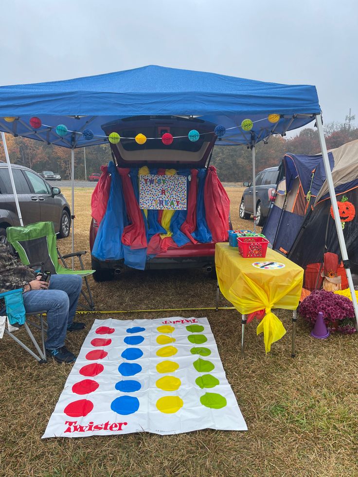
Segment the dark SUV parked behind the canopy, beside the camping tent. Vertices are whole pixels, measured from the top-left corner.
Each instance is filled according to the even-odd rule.
[[[276,186],[279,180],[279,167],[269,167],[256,176],[256,225],[262,227],[268,216],[271,203],[275,200]],[[244,182],[246,189],[241,198],[239,216],[249,219],[254,213],[252,181]]]

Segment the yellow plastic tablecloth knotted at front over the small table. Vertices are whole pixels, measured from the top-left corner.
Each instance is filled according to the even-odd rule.
[[[279,262],[278,269],[260,269],[255,262]],[[265,317],[257,327],[257,335],[264,333],[265,350],[282,338],[286,330],[272,308],[295,310],[298,306],[304,270],[286,257],[268,249],[265,258],[242,258],[236,247],[227,243],[215,246],[215,266],[219,288],[242,315],[265,309]]]

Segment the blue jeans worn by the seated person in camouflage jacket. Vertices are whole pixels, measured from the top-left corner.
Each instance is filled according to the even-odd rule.
[[[47,312],[46,348],[55,350],[65,344],[67,325],[73,321],[82,289],[79,275],[51,275],[48,290],[23,294],[26,313]]]

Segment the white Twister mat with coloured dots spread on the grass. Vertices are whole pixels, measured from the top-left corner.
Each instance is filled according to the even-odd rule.
[[[96,319],[46,437],[247,430],[206,318]]]

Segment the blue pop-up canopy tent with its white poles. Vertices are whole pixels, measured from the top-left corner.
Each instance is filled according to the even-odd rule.
[[[329,164],[321,108],[314,86],[281,85],[202,71],[146,66],[66,81],[0,88],[2,133],[72,150],[72,214],[74,149],[107,142],[108,138],[101,128],[104,123],[128,116],[148,115],[200,117],[226,128],[225,135],[218,137],[217,144],[250,147],[254,203],[255,144],[268,141],[272,134],[285,135],[286,131],[318,118],[316,123],[322,154],[326,165]],[[34,116],[41,121],[37,129],[30,124]],[[246,119],[252,122],[249,127],[242,123]],[[66,126],[61,136],[56,133],[59,124]],[[86,129],[90,129],[90,134],[83,134]],[[2,138],[5,143],[4,134]],[[327,179],[328,176],[330,171]],[[344,248],[343,235],[338,230],[340,220],[332,181],[330,192],[340,245]],[[72,226],[72,247],[73,237]],[[342,256],[348,258],[346,253]],[[355,306],[358,317],[357,303]]]

